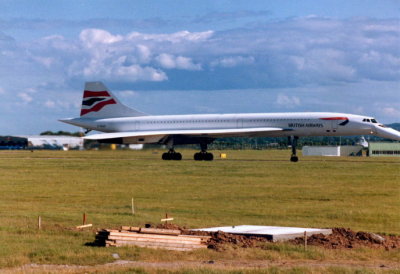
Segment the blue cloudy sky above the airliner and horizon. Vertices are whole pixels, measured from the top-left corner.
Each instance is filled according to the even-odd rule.
[[[85,81],[157,115],[400,122],[400,1],[0,0],[0,135],[78,131]]]

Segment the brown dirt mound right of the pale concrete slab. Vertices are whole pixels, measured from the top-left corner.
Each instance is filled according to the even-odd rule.
[[[294,244],[304,244],[304,237],[289,241]],[[333,228],[331,235],[316,234],[307,237],[307,244],[322,246],[329,249],[340,248],[400,248],[400,236],[381,236],[369,232],[355,232],[349,228]]]

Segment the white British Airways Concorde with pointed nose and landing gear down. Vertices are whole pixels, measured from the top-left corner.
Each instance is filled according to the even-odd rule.
[[[400,132],[375,118],[332,112],[149,115],[122,104],[102,82],[87,82],[79,118],[61,122],[103,133],[88,140],[113,144],[164,144],[163,160],[181,160],[175,145],[199,144],[196,161],[211,161],[207,145],[221,137],[288,137],[290,160],[297,162],[296,145],[303,136],[376,135],[400,141]]]

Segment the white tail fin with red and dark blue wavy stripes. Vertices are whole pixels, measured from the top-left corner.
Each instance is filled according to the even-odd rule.
[[[81,117],[116,118],[147,114],[122,104],[102,82],[86,82],[82,98]]]

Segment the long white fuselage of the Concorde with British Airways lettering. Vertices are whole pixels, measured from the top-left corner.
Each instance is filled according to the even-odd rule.
[[[344,125],[345,118],[348,120]],[[350,136],[378,132],[379,123],[366,116],[331,112],[160,115],[122,118],[77,118],[71,124],[101,132],[146,132],[234,128],[283,128],[280,132],[258,132],[249,137]],[[75,121],[74,121],[75,120]],[[236,135],[235,135],[236,136]]]

